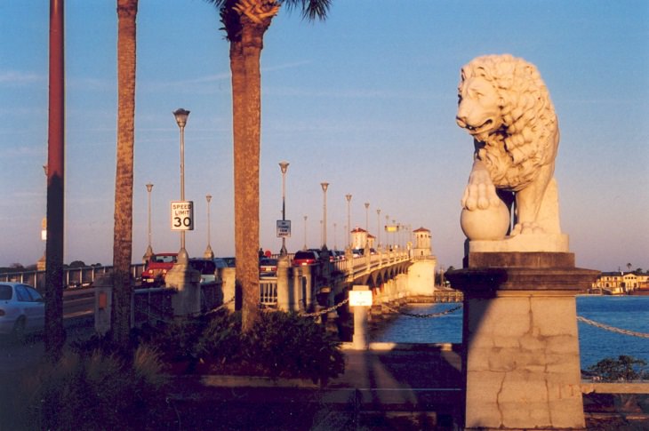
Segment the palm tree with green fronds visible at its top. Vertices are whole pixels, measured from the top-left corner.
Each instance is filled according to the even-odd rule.
[[[260,56],[263,37],[279,8],[301,6],[308,20],[326,18],[331,0],[207,0],[220,12],[230,44],[235,157],[236,282],[243,293],[242,324],[259,313]]]

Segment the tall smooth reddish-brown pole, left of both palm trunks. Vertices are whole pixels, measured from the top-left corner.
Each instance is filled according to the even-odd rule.
[[[60,356],[63,331],[65,208],[65,56],[63,0],[50,0],[49,117],[47,133],[47,241],[45,243],[45,353]]]

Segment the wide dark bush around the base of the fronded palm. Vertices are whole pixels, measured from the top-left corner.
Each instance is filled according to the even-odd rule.
[[[189,362],[186,372],[312,379],[325,383],[344,371],[340,342],[312,318],[294,313],[262,313],[249,333],[241,314],[177,319],[158,328],[148,342],[164,360]]]

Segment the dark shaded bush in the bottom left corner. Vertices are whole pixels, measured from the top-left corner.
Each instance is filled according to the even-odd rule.
[[[166,377],[156,350],[139,347],[132,361],[100,350],[63,353],[22,379],[16,398],[20,428],[124,429],[164,418]]]

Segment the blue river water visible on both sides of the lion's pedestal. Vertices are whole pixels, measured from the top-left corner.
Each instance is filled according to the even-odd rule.
[[[425,315],[438,313],[458,304],[418,304],[403,311]],[[649,296],[577,297],[577,315],[627,331],[649,333]],[[605,357],[629,355],[649,364],[649,339],[615,333],[578,322],[581,368],[586,369]],[[380,331],[373,341],[403,343],[461,343],[462,310],[433,318],[399,315]]]

